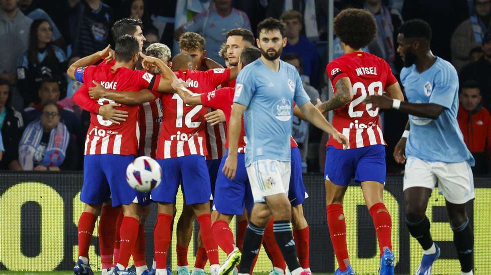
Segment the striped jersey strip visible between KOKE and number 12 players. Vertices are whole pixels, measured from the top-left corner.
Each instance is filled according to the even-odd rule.
[[[157,156],[157,141],[162,129],[162,104],[160,98],[144,102],[139,108],[139,155]]]

